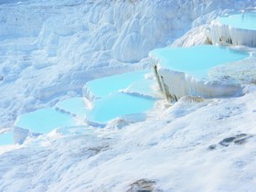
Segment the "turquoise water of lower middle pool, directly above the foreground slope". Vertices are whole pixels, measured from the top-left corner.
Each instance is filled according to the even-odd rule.
[[[94,123],[107,123],[116,117],[141,113],[154,107],[155,100],[125,93],[113,92],[111,95],[94,102],[87,112],[87,118]]]

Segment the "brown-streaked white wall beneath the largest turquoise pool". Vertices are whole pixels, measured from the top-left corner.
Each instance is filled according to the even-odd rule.
[[[186,95],[218,98],[242,94],[242,87],[236,81],[200,80],[185,72],[169,69],[159,69],[158,75],[162,77],[161,86],[167,100],[177,100]]]

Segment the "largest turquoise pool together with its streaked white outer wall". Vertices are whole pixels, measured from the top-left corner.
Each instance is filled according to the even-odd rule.
[[[157,48],[149,53],[159,89],[169,101],[193,95],[204,98],[239,96],[241,86],[234,80],[210,80],[213,67],[246,59],[246,51],[210,45],[190,48]]]

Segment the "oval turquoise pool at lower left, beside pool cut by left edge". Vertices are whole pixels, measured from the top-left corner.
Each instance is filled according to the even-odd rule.
[[[75,126],[76,124],[72,116],[52,108],[22,114],[16,121],[16,126],[28,129],[34,133],[49,133],[53,129]]]

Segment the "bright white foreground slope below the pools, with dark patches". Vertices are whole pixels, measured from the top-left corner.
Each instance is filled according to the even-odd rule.
[[[254,191],[255,96],[187,97],[123,130],[41,138],[0,155],[0,191],[126,191],[143,178],[163,191]]]

